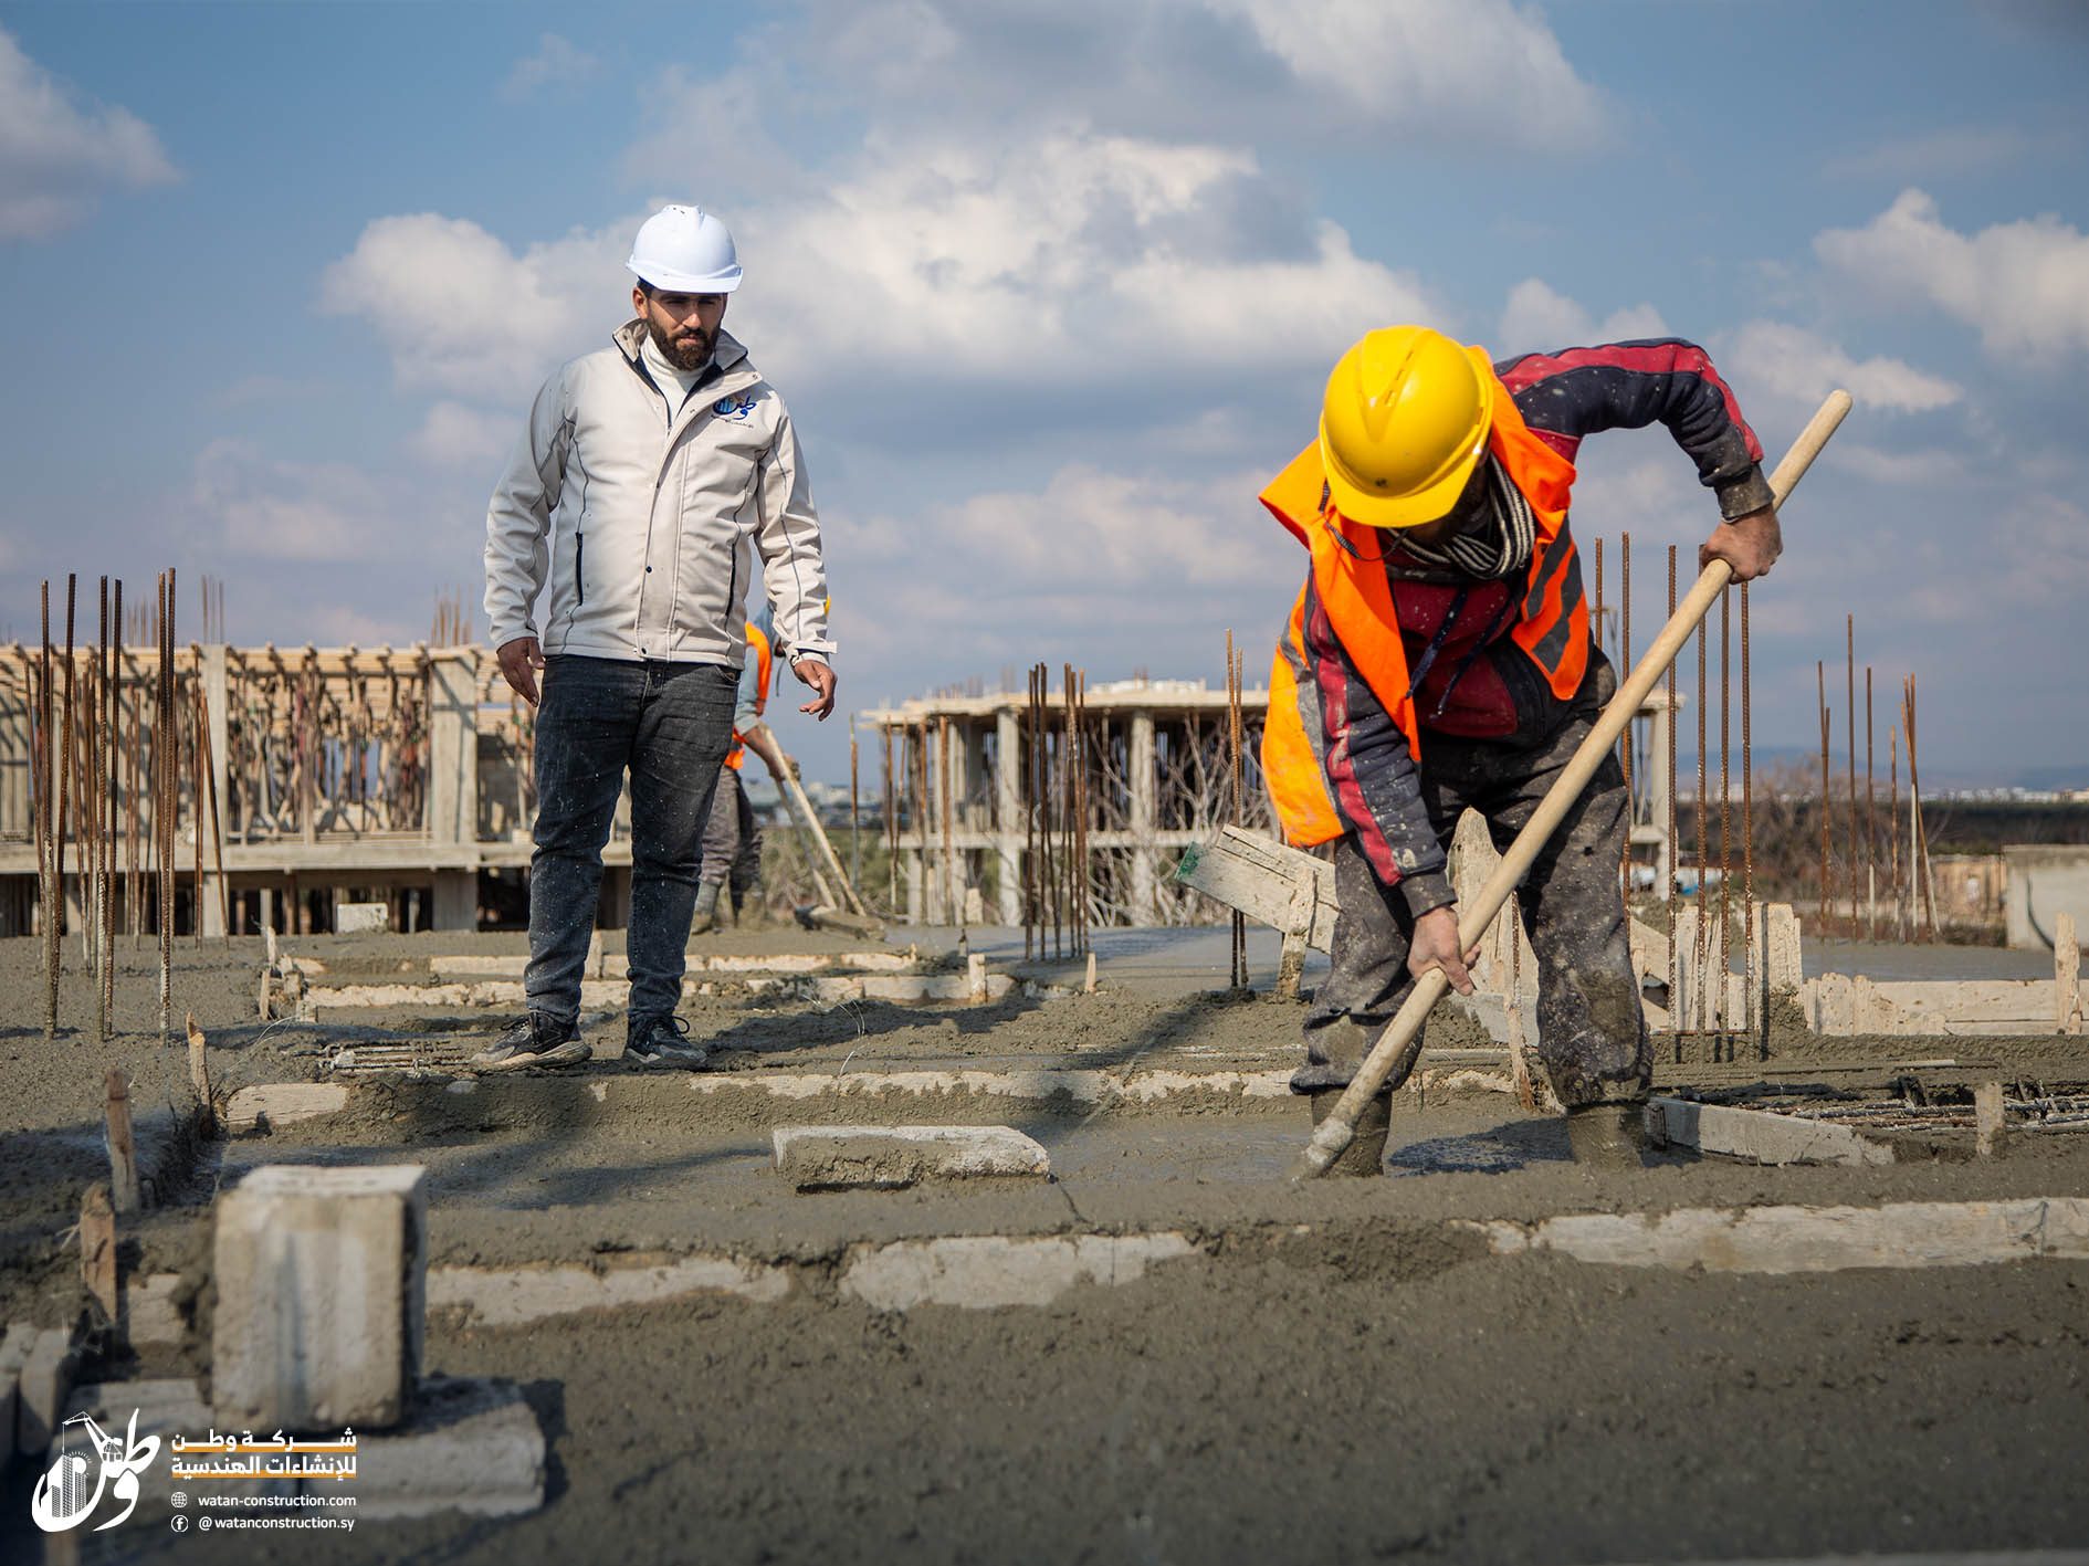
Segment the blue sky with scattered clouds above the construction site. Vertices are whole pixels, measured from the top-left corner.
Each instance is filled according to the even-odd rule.
[[[1857,395],[1755,595],[1757,741],[1817,741],[1855,612],[1880,756],[1911,670],[1926,779],[2089,783],[2085,67],[2058,0],[0,4],[0,633],[175,564],[240,641],[424,637],[675,198],[740,240],[848,708],[1216,683],[1228,628],[1253,681],[1304,570],[1253,495],[1352,338],[1673,332],[1771,453]],[[1711,520],[1659,430],[1583,449],[1642,645]]]

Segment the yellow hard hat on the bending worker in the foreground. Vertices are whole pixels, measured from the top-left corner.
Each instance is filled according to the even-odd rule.
[[[1427,326],[1366,332],[1335,361],[1320,403],[1335,509],[1375,528],[1435,522],[1473,476],[1492,422],[1492,388],[1462,347]]]

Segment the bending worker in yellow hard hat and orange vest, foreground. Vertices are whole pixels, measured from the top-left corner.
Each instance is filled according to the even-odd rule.
[[[1320,438],[1262,493],[1312,555],[1270,674],[1262,760],[1289,841],[1333,844],[1333,971],[1291,1079],[1327,1117],[1414,979],[1473,992],[1446,856],[1477,810],[1506,850],[1617,677],[1596,647],[1567,526],[1583,436],[1667,426],[1719,503],[1698,551],[1734,580],[1782,549],[1763,449],[1703,349],[1615,342],[1489,363],[1423,326],[1370,332],[1335,365]],[[1531,864],[1538,1054],[1575,1157],[1636,1161],[1652,1048],[1619,864],[1611,756]],[[1389,1096],[1337,1173],[1377,1173]]]

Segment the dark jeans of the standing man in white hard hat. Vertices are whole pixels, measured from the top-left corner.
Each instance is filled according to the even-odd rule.
[[[710,793],[733,741],[740,670],[547,658],[537,710],[529,1009],[572,1023],[602,892],[602,848],[631,773],[631,1015],[673,1013]]]

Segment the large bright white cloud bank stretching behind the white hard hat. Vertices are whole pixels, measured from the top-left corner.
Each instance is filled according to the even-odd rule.
[[[721,213],[748,267],[727,330],[748,322],[785,388],[896,374],[1122,388],[1320,367],[1368,326],[1441,313],[1333,223],[1301,223],[1272,253],[1239,209],[1266,184],[1253,157],[1214,146],[873,142],[825,182]],[[378,330],[401,386],[535,386],[620,319],[639,221],[518,255],[466,219],[380,217],[320,301]]]

